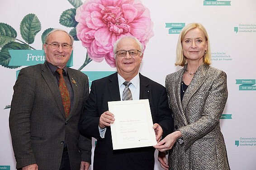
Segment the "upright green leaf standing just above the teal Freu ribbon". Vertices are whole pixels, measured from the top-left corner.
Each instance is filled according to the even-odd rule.
[[[20,23],[20,34],[28,44],[34,42],[35,36],[40,30],[41,23],[33,13],[26,15]]]

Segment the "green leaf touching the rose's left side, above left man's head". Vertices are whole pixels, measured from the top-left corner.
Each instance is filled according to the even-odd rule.
[[[76,22],[75,16],[76,16],[75,8],[67,9],[67,10],[63,11],[63,13],[60,17],[60,20],[59,20],[60,24],[62,24],[63,26],[66,26],[66,27],[76,27],[78,22]]]

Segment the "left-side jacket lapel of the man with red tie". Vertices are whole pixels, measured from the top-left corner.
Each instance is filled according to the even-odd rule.
[[[51,72],[50,68],[48,68],[46,63],[44,63],[42,65],[42,76],[43,76],[44,80],[46,81],[49,89],[51,90],[53,98],[54,98],[55,102],[57,103],[57,106],[59,107],[60,111],[62,112],[62,115],[66,119],[60,89],[58,88],[58,84],[55,81],[55,77],[52,75],[52,72]]]

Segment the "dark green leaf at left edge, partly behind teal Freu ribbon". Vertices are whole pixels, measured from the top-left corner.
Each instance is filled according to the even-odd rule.
[[[21,44],[12,41],[4,45],[4,47],[0,50],[0,64],[7,68],[18,68],[20,66],[9,66],[11,59],[11,56],[8,51],[9,49],[30,49],[30,47],[26,44]]]

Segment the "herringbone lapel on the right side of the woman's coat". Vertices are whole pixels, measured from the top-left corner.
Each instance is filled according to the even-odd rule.
[[[185,110],[187,107],[190,99],[194,95],[195,92],[200,88],[200,86],[204,83],[206,79],[206,73],[209,69],[209,65],[202,64],[196,71],[192,81],[190,82],[190,85],[188,86],[187,90],[185,91],[182,106]]]

